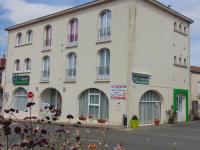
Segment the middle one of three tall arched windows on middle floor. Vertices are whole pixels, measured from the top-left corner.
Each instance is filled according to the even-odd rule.
[[[76,54],[70,53],[67,57],[66,80],[76,80]]]

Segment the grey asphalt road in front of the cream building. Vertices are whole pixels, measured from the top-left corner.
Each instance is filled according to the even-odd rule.
[[[51,132],[52,126],[47,129]],[[74,129],[72,129],[73,135],[76,133]],[[87,140],[88,143],[97,145],[102,143],[104,130],[84,127],[80,132],[82,141]],[[105,150],[113,150],[118,143],[121,143],[126,150],[200,150],[200,121],[190,122],[187,125],[166,124],[139,129],[108,129],[105,133]],[[71,136],[73,141],[74,137]]]

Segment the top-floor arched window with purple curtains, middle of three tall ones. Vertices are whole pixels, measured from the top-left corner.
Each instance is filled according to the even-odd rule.
[[[76,43],[78,41],[78,19],[72,19],[69,26],[69,43]]]

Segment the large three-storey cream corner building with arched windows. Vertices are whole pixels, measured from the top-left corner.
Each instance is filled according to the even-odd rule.
[[[32,91],[38,116],[52,104],[61,120],[146,125],[174,105],[188,120],[192,22],[157,1],[96,0],[8,27],[5,108],[24,117]]]

